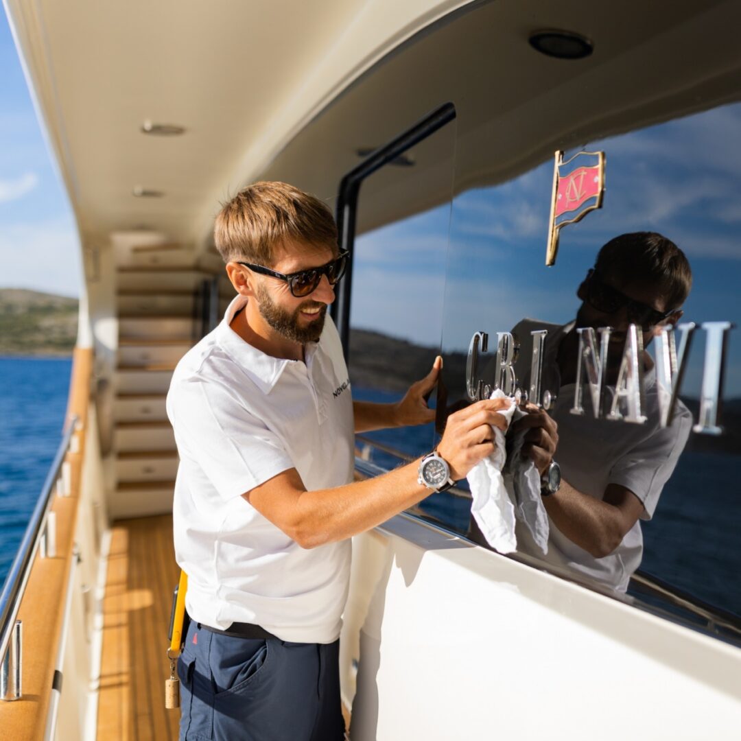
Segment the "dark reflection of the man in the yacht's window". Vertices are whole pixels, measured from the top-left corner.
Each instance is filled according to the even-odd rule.
[[[570,412],[574,405],[579,336],[576,328],[612,327],[608,371],[603,393],[605,408],[614,396],[628,325],[642,329],[643,346],[661,325],[675,325],[679,307],[691,288],[692,276],[684,253],[657,233],[623,234],[608,242],[597,263],[579,285],[582,305],[576,321],[562,327],[525,319],[513,332],[522,342],[516,376],[528,388],[531,330],[548,329],[542,389],[557,395],[550,417],[534,411],[519,424],[532,427],[526,439],[542,471],[550,462],[548,449],[557,439],[554,458],[562,485],[544,496],[551,534],[545,560],[625,591],[641,562],[643,539],[639,519],[651,519],[691,428],[691,414],[677,402],[674,420],[659,425],[659,402],[654,362],[645,350],[645,424],[595,419],[585,399],[585,414]],[[599,333],[597,333],[599,338]],[[598,339],[599,342],[599,339]],[[527,367],[523,367],[527,366]],[[582,376],[583,378],[583,376]],[[588,396],[588,394],[585,394]],[[526,528],[518,528],[518,548],[542,556]]]

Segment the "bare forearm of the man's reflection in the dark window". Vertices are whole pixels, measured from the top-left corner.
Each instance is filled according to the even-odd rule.
[[[608,556],[620,545],[624,524],[615,505],[582,494],[565,481],[543,503],[556,528],[592,556]]]

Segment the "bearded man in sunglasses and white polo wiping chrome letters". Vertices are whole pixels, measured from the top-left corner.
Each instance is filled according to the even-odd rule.
[[[398,404],[351,401],[326,315],[345,256],[313,196],[247,187],[217,216],[215,238],[239,295],[179,362],[167,396],[192,619],[178,663],[181,738],[340,741],[348,539],[465,477],[494,451],[504,405],[452,415],[440,457],[350,483],[353,431],[433,419],[425,395],[440,360]]]

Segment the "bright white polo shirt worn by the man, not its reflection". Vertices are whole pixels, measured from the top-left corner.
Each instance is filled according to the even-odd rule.
[[[339,637],[350,541],[300,548],[242,496],[289,468],[309,491],[353,477],[353,407],[337,330],[327,317],[305,363],[253,348],[230,322],[178,363],[167,394],[180,465],[173,501],[175,555],[197,622],[251,622],[282,640]]]

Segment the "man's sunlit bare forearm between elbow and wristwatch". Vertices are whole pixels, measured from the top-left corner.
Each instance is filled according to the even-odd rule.
[[[418,469],[419,460],[373,479],[302,492],[291,536],[303,548],[313,548],[380,525],[430,494],[417,482]]]

